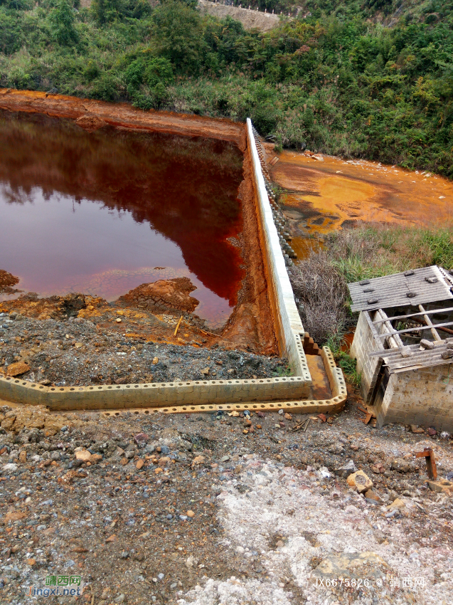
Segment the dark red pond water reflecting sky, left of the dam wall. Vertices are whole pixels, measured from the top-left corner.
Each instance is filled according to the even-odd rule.
[[[109,301],[186,276],[220,327],[243,278],[242,180],[229,142],[0,111],[0,269],[25,292]]]

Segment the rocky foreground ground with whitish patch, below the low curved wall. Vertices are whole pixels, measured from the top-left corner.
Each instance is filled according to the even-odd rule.
[[[46,602],[450,604],[452,499],[414,452],[432,448],[447,477],[452,438],[366,426],[357,404],[351,390],[305,431],[295,415],[4,406],[1,603],[41,602],[46,578],[81,593],[80,577],[83,594]]]

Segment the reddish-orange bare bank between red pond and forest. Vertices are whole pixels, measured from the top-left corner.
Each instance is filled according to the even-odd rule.
[[[85,130],[97,130],[108,124],[117,128],[230,141],[237,144],[241,151],[246,147],[244,124],[196,115],[142,111],[128,103],[107,103],[64,95],[48,95],[34,90],[0,88],[0,108],[67,117],[75,120]]]

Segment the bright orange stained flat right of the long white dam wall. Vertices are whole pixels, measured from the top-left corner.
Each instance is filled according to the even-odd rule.
[[[268,159],[275,156],[271,149],[267,146]],[[301,231],[293,240],[299,258],[319,236],[348,221],[427,227],[453,221],[452,181],[362,159],[316,157],[284,151],[271,168],[272,179],[284,189],[284,211]]]

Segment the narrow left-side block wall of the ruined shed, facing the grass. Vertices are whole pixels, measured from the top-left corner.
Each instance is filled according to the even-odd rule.
[[[368,311],[358,316],[356,332],[351,344],[351,357],[357,361],[357,372],[361,374],[361,395],[363,401],[370,403],[380,369],[379,357],[370,357],[370,353],[380,349],[369,324]]]

